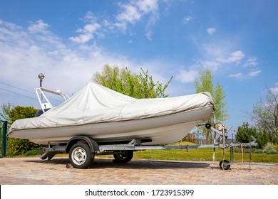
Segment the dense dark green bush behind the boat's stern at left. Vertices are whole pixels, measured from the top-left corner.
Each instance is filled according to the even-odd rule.
[[[12,124],[16,119],[24,119],[34,117],[38,109],[34,107],[20,107],[16,106],[9,112],[10,124]],[[11,138],[8,140],[8,152],[9,154],[23,155],[27,151],[38,148],[38,144],[34,144],[26,139],[14,139]]]

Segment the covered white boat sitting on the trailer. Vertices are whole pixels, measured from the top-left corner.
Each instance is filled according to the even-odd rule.
[[[171,144],[215,111],[209,92],[135,99],[94,82],[57,107],[49,103],[41,107],[43,114],[16,120],[7,136],[41,145],[65,145],[74,136],[88,136],[98,144],[123,144],[132,139],[148,146]]]

